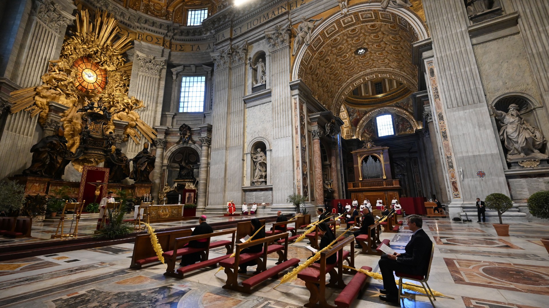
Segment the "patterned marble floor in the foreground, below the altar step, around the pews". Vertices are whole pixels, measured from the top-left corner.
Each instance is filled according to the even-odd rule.
[[[425,219],[423,229],[435,242],[429,284],[455,298],[437,298],[437,307],[547,307],[549,256],[538,242],[549,237],[549,224],[515,223],[510,237],[498,237],[491,224],[445,219]],[[399,233],[382,234],[397,251],[404,249],[410,236],[407,227],[401,227]],[[295,244],[288,256],[307,258],[310,253],[305,246],[306,241]],[[299,279],[276,290],[273,287],[278,280],[272,279],[248,295],[222,289],[226,275],[217,269],[195,271],[183,280],[163,276],[162,264],[132,270],[128,268],[132,248],[128,243],[1,262],[0,306],[296,308],[309,298]],[[210,252],[210,258],[224,254],[223,250]],[[275,255],[270,257],[268,266],[273,266]],[[378,259],[357,254],[355,265],[379,271]],[[239,276],[239,280],[245,278]],[[350,279],[344,275],[346,282]],[[382,287],[370,280],[351,307],[391,307],[378,298]],[[328,302],[333,303],[340,291],[328,290]],[[427,297],[418,294],[410,294],[403,304],[431,307]]]

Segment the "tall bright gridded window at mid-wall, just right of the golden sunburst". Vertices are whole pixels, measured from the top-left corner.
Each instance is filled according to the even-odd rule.
[[[204,111],[204,84],[206,76],[183,76],[179,112]]]

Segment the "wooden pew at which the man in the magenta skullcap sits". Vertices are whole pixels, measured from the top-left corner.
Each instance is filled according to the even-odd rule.
[[[221,235],[232,235],[232,240],[229,241],[215,241],[211,242],[212,237],[221,236]],[[166,272],[164,273],[165,276],[172,276],[176,278],[183,278],[183,274],[186,272],[190,272],[193,270],[198,270],[206,266],[212,266],[216,265],[222,260],[225,260],[231,256],[233,252],[234,247],[234,239],[236,235],[236,230],[226,230],[226,231],[220,231],[220,232],[213,232],[203,235],[194,235],[194,236],[185,236],[185,237],[179,237],[176,238],[173,242],[173,249],[169,250],[167,252],[164,252],[162,256],[164,256],[164,262],[166,263]],[[191,247],[184,247],[187,243],[191,241],[195,241],[197,239],[208,239],[206,242],[208,243],[206,248],[191,248]],[[227,248],[227,254],[225,256],[220,256],[218,258],[209,259],[210,256],[210,249],[211,248],[217,248],[221,247],[222,244],[225,244],[225,247]],[[178,256],[182,256],[184,258],[184,255],[199,252],[201,254],[200,262],[197,262],[195,264],[182,266],[177,271],[175,270],[175,264],[176,259]]]

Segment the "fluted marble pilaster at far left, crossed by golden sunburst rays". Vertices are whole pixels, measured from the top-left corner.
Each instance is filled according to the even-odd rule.
[[[12,55],[12,58],[16,57],[13,62],[17,65],[9,72],[7,70],[5,77],[21,88],[40,85],[40,77],[48,69],[48,60],[59,59],[63,33],[72,19],[74,17],[69,13],[51,3],[33,2],[30,21],[21,22],[20,25],[24,27],[20,52]],[[0,139],[0,179],[29,167],[32,158],[30,149],[40,138],[35,136],[37,119],[30,118],[27,111],[7,116]]]

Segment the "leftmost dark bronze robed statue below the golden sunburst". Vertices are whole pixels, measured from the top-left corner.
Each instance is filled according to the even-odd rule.
[[[65,167],[69,164],[72,152],[67,149],[65,130],[59,127],[57,134],[46,136],[31,147],[31,166],[23,170],[25,175],[41,176],[60,180],[65,174]]]

